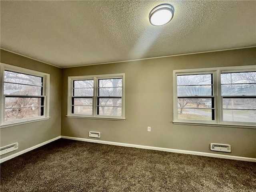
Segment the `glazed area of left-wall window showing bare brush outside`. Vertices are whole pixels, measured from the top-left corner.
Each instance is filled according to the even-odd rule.
[[[4,120],[16,120],[43,115],[43,78],[4,71]]]

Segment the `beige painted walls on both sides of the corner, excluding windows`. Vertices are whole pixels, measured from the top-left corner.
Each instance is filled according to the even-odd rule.
[[[256,48],[62,70],[1,50],[1,62],[50,74],[51,116],[49,120],[1,128],[1,146],[19,143],[18,150],[1,158],[60,135],[89,138],[88,131],[100,131],[102,138],[97,140],[219,154],[223,153],[210,151],[211,142],[230,144],[232,153],[226,155],[256,158],[256,129],[172,124],[173,70],[255,65]],[[115,73],[125,73],[125,121],[66,117],[68,76]]]

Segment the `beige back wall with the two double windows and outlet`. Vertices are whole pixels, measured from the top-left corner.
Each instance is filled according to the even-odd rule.
[[[230,144],[225,155],[256,158],[256,129],[172,124],[172,72],[177,69],[256,64],[256,48],[132,62],[65,68],[62,70],[62,136],[212,152],[210,143]],[[67,118],[68,76],[125,73],[125,121]],[[151,126],[151,132],[147,132]],[[90,138],[92,139],[92,138]]]

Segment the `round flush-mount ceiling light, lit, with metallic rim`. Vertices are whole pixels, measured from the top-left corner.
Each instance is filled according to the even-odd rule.
[[[174,8],[170,4],[161,4],[156,6],[149,14],[149,21],[154,26],[162,26],[170,20],[174,15]]]

